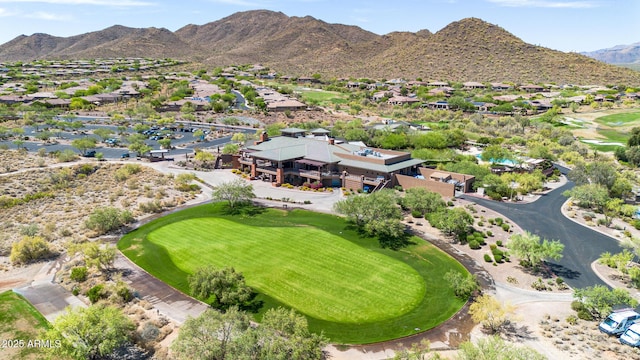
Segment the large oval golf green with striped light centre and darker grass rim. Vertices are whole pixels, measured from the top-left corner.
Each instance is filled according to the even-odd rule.
[[[186,277],[199,266],[233,266],[261,294],[262,312],[293,307],[333,342],[371,343],[432,328],[463,305],[442,276],[466,270],[412,240],[402,251],[383,250],[339,217],[275,209],[230,216],[218,204],[151,222],[118,247],[185,293]]]

